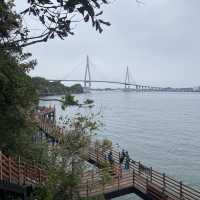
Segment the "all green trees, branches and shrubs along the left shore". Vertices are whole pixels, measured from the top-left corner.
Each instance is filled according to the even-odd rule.
[[[78,192],[80,176],[84,170],[84,152],[98,128],[95,114],[65,119],[65,135],[62,143],[49,148],[46,141],[34,142],[38,132],[32,113],[39,95],[44,93],[79,93],[80,85],[66,88],[60,83],[49,83],[42,78],[28,75],[36,61],[23,47],[46,42],[54,37],[64,39],[73,34],[71,25],[77,17],[92,22],[102,32],[99,19],[101,6],[106,0],[28,0],[28,8],[22,13],[14,11],[14,0],[0,1],[0,150],[7,155],[21,156],[40,163],[46,169],[48,179],[33,191],[32,200],[81,199]],[[58,15],[58,12],[61,13]],[[34,35],[23,25],[24,15],[29,14],[41,22],[45,30]],[[38,95],[39,94],[39,95]],[[63,109],[69,105],[90,108],[93,101],[77,102],[69,94],[62,100]],[[92,198],[90,198],[92,199]],[[95,199],[101,199],[97,197]]]

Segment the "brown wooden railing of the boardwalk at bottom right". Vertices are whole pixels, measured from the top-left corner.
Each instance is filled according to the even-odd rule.
[[[89,150],[89,159],[97,164],[105,161],[107,151],[94,145]],[[119,152],[112,150],[115,168],[119,167]],[[112,169],[114,170],[114,169]],[[83,196],[95,196],[101,193],[117,192],[124,188],[134,187],[142,193],[156,200],[200,200],[200,191],[184,185],[166,174],[148,168],[140,162],[131,160],[129,170],[123,170],[121,177],[116,170],[113,171],[112,181],[102,183],[101,173],[91,172],[80,186]]]

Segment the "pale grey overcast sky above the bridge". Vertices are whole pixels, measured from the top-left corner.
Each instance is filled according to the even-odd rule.
[[[16,0],[20,9],[24,1]],[[144,2],[116,0],[107,6],[104,18],[112,26],[103,34],[79,24],[65,41],[28,48],[38,60],[31,75],[83,78],[88,54],[93,79],[124,81],[128,65],[138,84],[200,85],[200,0]]]

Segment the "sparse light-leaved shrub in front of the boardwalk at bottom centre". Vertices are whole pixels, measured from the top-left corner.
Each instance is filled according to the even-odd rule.
[[[36,188],[31,200],[81,199],[78,186],[85,170],[85,152],[97,123],[92,117],[81,114],[77,114],[74,119],[63,120],[63,123],[66,131],[62,142],[49,150],[46,165],[48,180],[45,185]]]

